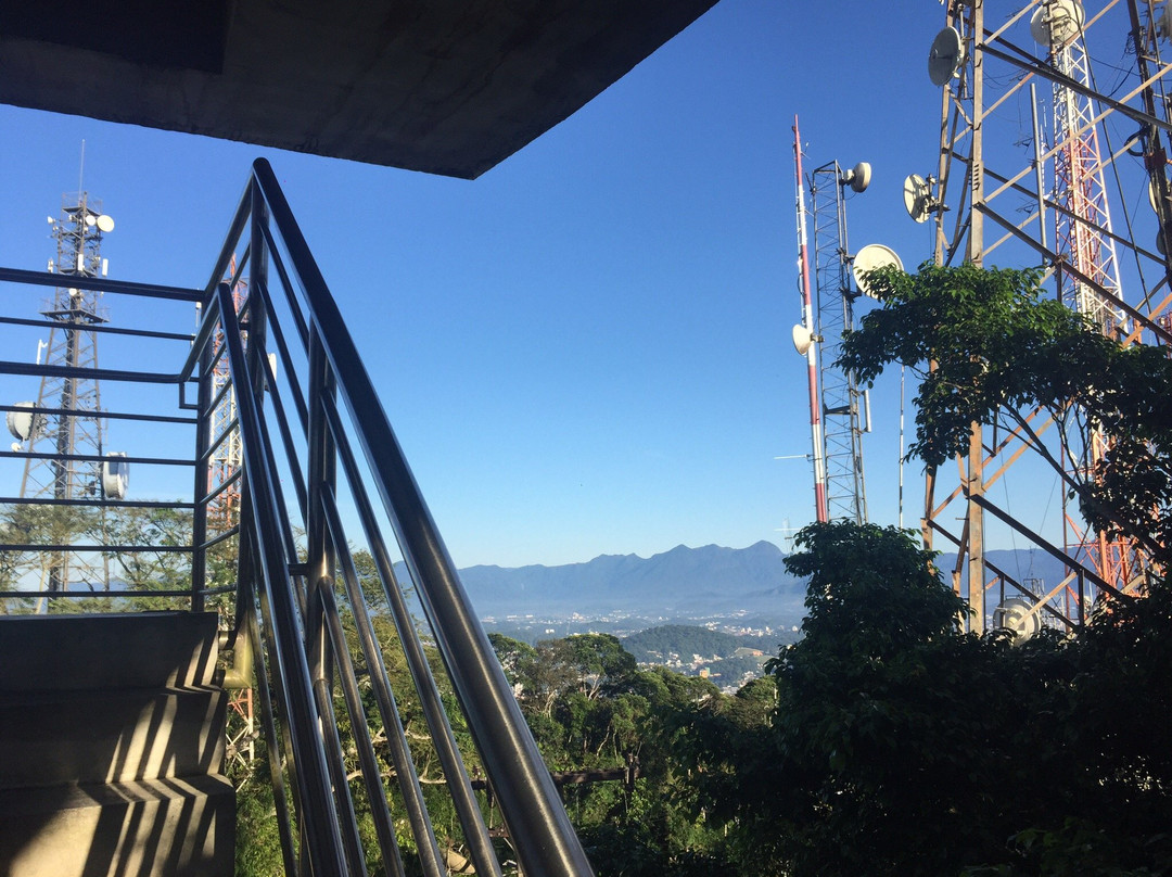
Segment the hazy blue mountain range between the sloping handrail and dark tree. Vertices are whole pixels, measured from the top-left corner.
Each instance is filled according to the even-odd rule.
[[[481,617],[769,611],[796,623],[805,586],[785,571],[783,558],[770,542],[745,549],[679,545],[649,558],[602,555],[564,566],[470,566],[459,576]]]

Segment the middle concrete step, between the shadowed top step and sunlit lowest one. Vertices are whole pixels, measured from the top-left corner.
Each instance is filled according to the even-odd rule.
[[[0,788],[224,769],[219,688],[0,693]]]

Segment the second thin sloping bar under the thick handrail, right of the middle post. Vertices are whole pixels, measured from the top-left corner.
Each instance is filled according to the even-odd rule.
[[[382,716],[383,728],[387,730],[387,743],[390,747],[391,762],[398,779],[398,788],[403,795],[407,815],[411,822],[411,834],[415,835],[416,845],[420,850],[423,872],[442,877],[447,869],[440,861],[440,845],[436,842],[435,831],[428,818],[428,807],[423,798],[423,788],[415,770],[415,760],[411,756],[410,748],[407,746],[407,732],[403,728],[398,705],[395,702],[395,692],[387,677],[387,665],[382,657],[382,650],[374,637],[374,628],[370,624],[370,617],[367,613],[366,598],[359,584],[357,569],[354,566],[354,556],[347,545],[341,516],[338,514],[338,502],[331,491],[326,491],[322,498],[326,522],[334,533],[334,542],[338,544],[342,580],[350,600],[352,611],[354,612],[355,627],[359,632],[367,669],[370,673],[375,701],[379,706],[379,713]],[[437,752],[438,749],[440,747],[436,746]],[[443,763],[442,757],[441,763]],[[424,850],[427,850],[427,854],[424,854]]]

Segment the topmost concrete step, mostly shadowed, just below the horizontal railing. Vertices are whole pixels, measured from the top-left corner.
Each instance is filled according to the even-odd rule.
[[[0,617],[0,692],[211,685],[216,614]]]

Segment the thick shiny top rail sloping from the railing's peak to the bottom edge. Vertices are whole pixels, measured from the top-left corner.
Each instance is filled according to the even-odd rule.
[[[424,611],[500,803],[518,861],[534,875],[592,875],[504,669],[476,619],[349,329],[272,168],[258,158],[253,175],[293,261],[331,365],[342,376],[342,397],[357,424],[363,454],[398,535],[403,559],[420,585]]]

